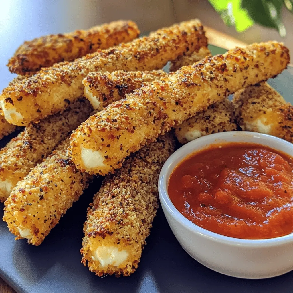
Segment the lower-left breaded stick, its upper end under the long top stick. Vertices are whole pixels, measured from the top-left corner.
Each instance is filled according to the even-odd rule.
[[[79,199],[92,176],[77,170],[67,156],[69,137],[17,183],[5,202],[3,220],[17,239],[40,245]]]

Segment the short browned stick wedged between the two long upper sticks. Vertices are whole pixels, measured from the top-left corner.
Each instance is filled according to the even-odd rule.
[[[123,70],[109,72],[91,72],[83,80],[84,96],[91,102],[95,110],[121,100],[126,94],[150,82],[167,76],[163,70],[129,71]]]

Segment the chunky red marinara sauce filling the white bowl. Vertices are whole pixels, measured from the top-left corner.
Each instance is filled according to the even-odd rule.
[[[180,162],[169,178],[176,209],[209,231],[266,239],[293,231],[293,160],[258,144],[212,145]]]

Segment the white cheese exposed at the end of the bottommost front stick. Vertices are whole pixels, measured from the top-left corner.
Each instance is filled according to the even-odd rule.
[[[107,265],[115,265],[116,267],[121,265],[127,258],[128,252],[125,250],[118,251],[115,246],[99,246],[93,253],[93,260],[98,260],[105,268]]]

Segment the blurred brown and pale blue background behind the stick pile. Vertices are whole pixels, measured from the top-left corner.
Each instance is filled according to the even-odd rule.
[[[208,0],[0,0],[0,3],[0,88],[13,79],[6,64],[23,41],[117,19],[136,21],[143,33],[199,18],[204,25],[243,42],[278,40],[293,51],[293,16],[285,6],[281,13],[287,36],[282,38],[277,30],[257,24],[238,33],[234,26],[224,24]]]

